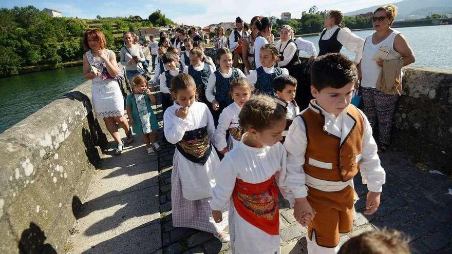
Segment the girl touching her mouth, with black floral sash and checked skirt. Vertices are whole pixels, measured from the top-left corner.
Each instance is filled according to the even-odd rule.
[[[223,231],[227,220],[216,224],[209,206],[220,163],[211,144],[215,132],[212,114],[204,103],[195,101],[196,85],[189,74],[173,77],[171,92],[176,103],[164,113],[163,130],[166,140],[177,148],[171,173],[173,226],[211,232],[221,242],[229,242]]]

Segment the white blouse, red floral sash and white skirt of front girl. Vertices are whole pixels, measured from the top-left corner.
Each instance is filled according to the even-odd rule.
[[[232,197],[229,210],[232,252],[279,253],[278,186],[284,197],[289,196],[284,187],[284,146],[278,142],[271,147],[254,148],[239,142],[225,154],[215,176],[212,209],[227,207]]]

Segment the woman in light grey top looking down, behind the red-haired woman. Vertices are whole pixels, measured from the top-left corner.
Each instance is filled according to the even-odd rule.
[[[120,62],[121,65],[125,66],[125,74],[131,84],[136,74],[144,74],[143,62],[146,57],[140,45],[136,43],[135,33],[125,32],[123,38],[124,47],[119,52]]]

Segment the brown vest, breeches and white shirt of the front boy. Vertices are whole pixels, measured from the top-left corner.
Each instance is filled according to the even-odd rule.
[[[293,121],[284,146],[285,185],[316,211],[308,224],[308,253],[335,253],[339,233],[353,226],[354,175],[361,171],[369,191],[381,192],[385,183],[370,124],[351,104],[336,117],[312,100]]]

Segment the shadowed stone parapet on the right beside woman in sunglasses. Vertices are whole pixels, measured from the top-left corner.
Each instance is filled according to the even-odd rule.
[[[452,174],[452,70],[405,68],[392,146]]]

